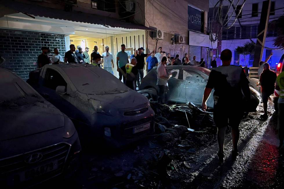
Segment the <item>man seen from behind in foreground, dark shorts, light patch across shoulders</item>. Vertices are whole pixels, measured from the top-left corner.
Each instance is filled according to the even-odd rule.
[[[224,140],[226,127],[232,128],[232,158],[236,159],[239,155],[239,124],[243,116],[242,100],[250,99],[249,81],[245,72],[239,66],[230,65],[232,61],[232,52],[225,49],[221,52],[222,66],[213,68],[210,72],[207,85],[204,90],[202,109],[206,110],[206,101],[214,89],[214,123],[218,128],[217,140],[219,144],[218,157],[221,162],[224,161]],[[243,91],[243,94],[242,94]],[[234,106],[229,104],[234,101]]]

